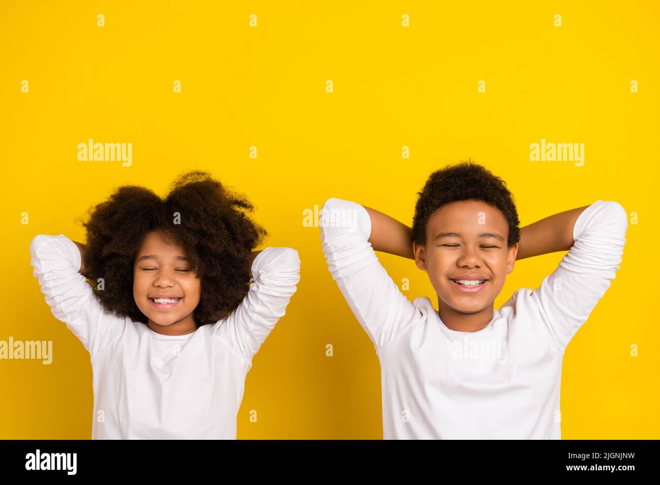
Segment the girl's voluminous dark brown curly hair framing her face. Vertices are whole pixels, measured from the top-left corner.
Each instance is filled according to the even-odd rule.
[[[268,234],[246,214],[253,209],[244,196],[199,170],[179,176],[164,198],[137,185],[119,187],[82,222],[86,277],[100,305],[147,323],[133,298],[133,265],[147,233],[158,230],[182,247],[200,278],[197,327],[226,317],[248,293],[251,252]],[[96,288],[98,278],[104,278],[103,290]]]

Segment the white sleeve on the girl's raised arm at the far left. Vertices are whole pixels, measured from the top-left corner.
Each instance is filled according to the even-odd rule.
[[[64,234],[38,234],[30,242],[32,274],[38,278],[46,303],[59,321],[93,354],[121,330],[124,319],[104,313],[92,286],[79,271],[81,253]]]

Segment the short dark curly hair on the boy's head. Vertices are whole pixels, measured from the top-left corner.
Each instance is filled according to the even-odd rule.
[[[426,225],[436,210],[451,202],[465,200],[483,201],[502,212],[509,224],[508,247],[520,240],[518,212],[506,182],[472,159],[436,170],[417,195],[413,241],[420,246],[426,243]]]

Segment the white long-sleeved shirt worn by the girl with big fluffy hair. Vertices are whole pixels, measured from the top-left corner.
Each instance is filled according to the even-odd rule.
[[[177,336],[106,313],[79,273],[78,247],[63,234],[39,234],[30,255],[53,315],[90,353],[92,439],[236,439],[252,358],[300,280],[298,251],[263,249],[240,306],[213,325]]]

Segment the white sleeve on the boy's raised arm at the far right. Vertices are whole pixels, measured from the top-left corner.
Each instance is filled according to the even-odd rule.
[[[611,286],[620,269],[627,229],[628,214],[622,205],[596,201],[576,220],[570,251],[531,293],[560,352]]]

